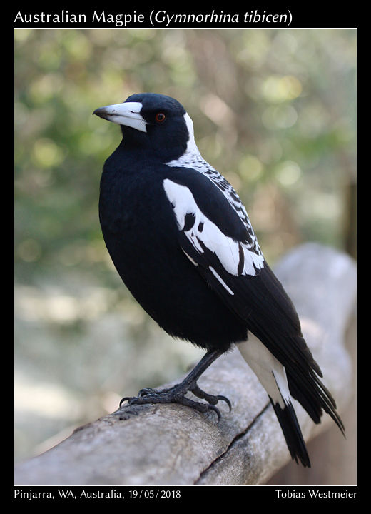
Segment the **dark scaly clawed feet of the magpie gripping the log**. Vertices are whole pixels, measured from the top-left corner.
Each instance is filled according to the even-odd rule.
[[[193,393],[198,398],[206,400],[208,403],[201,403],[190,400],[190,398],[185,396],[188,391]],[[215,407],[219,400],[225,401],[229,407],[229,410],[231,410],[232,405],[230,404],[230,400],[228,400],[228,398],[222,395],[210,395],[205,393],[205,391],[198,387],[195,381],[192,381],[190,383],[182,382],[168,389],[141,389],[138,393],[138,396],[126,396],[125,398],[122,398],[120,407],[124,401],[127,401],[129,405],[143,405],[144,403],[181,403],[181,405],[187,405],[188,407],[198,410],[201,413],[213,410],[216,415],[218,415],[219,423],[221,414],[220,410]]]

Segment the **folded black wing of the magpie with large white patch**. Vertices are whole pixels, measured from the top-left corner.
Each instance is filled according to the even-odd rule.
[[[236,221],[228,211],[233,208],[223,203],[223,192],[218,189],[220,205],[214,198],[214,210],[210,211],[209,184],[200,182],[200,190],[196,190],[192,183],[182,183],[177,177],[175,181],[166,178],[163,186],[176,216],[178,242],[185,255],[235,316],[245,321],[248,330],[285,367],[290,393],[315,423],[320,423],[323,409],[343,430],[335,401],[318,378],[322,372],[305,343],[292,301],[260,248],[254,251],[243,231],[236,237],[230,226]],[[213,213],[222,220],[223,230]]]

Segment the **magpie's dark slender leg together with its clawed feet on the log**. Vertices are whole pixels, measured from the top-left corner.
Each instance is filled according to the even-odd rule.
[[[200,412],[207,412],[208,410],[213,410],[218,415],[218,420],[220,420],[220,411],[215,405],[219,400],[225,401],[228,404],[229,409],[231,409],[230,401],[228,398],[222,395],[210,395],[205,393],[202,389],[200,389],[197,385],[198,378],[202,375],[202,373],[210,366],[216,358],[218,358],[223,352],[219,350],[208,351],[205,353],[203,358],[200,360],[198,364],[193,368],[192,371],[185,377],[183,382],[173,385],[173,387],[168,389],[150,389],[144,388],[141,389],[138,393],[138,396],[127,396],[123,398],[120,402],[120,406],[124,401],[128,401],[129,405],[134,404],[143,404],[143,403],[181,403],[182,405],[188,405],[188,407],[192,407],[195,410],[199,410]],[[190,391],[198,398],[202,398],[206,400],[208,403],[195,402],[190,400],[190,398],[186,398],[185,395]]]

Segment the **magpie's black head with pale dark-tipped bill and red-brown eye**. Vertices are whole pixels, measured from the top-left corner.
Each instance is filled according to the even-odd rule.
[[[122,104],[100,107],[93,114],[121,125],[126,148],[140,148],[163,162],[195,146],[192,120],[171,96],[133,94]]]

